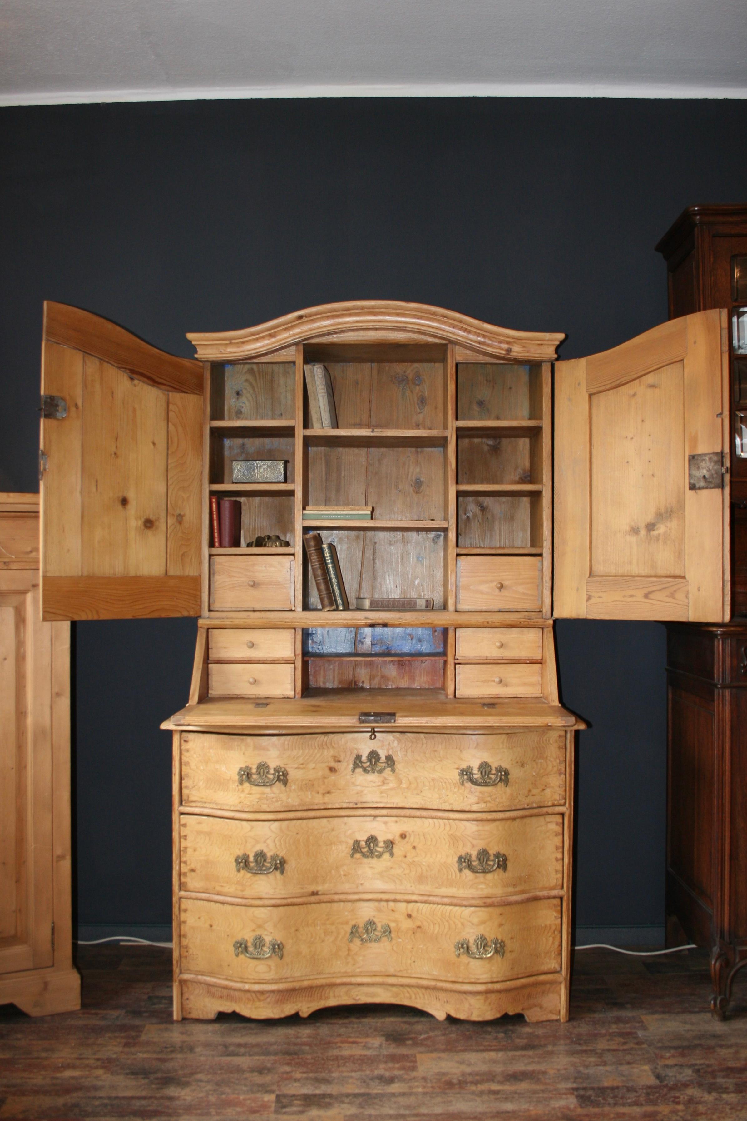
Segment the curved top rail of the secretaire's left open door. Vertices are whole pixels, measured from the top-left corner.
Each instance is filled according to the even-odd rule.
[[[159,351],[115,323],[68,304],[45,300],[44,339],[99,358],[160,389],[203,391],[199,362]]]

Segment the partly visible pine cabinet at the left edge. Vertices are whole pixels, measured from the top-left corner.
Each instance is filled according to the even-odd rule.
[[[81,1007],[71,942],[69,623],[41,622],[39,497],[0,494],[0,1004]]]

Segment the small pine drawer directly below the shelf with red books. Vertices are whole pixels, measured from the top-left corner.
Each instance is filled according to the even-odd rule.
[[[292,609],[293,557],[211,557],[211,610]]]

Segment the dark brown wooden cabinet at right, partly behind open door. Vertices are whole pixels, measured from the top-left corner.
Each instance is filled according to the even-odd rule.
[[[732,621],[667,624],[667,941],[711,946],[722,1017],[747,963],[747,205],[690,206],[656,249],[671,319],[727,312]]]

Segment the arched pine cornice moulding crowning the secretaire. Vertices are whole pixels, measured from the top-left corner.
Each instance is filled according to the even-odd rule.
[[[203,361],[251,360],[296,343],[440,342],[519,362],[551,362],[564,334],[508,331],[459,312],[395,299],[321,304],[243,331],[188,334]]]

